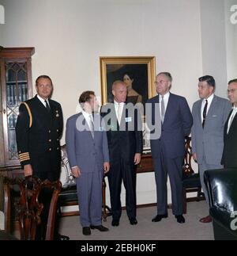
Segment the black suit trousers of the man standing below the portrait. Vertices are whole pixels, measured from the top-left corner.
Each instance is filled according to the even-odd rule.
[[[129,219],[136,217],[136,168],[134,163],[126,162],[124,159],[116,159],[116,164],[111,162],[108,172],[108,181],[111,194],[111,210],[113,220],[119,220],[122,214],[121,207],[121,185],[126,189],[126,213]]]

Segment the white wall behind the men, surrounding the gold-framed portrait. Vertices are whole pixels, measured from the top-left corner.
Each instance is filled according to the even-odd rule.
[[[216,38],[220,43],[205,38],[213,26],[205,27],[209,22],[202,1],[201,8],[199,0],[2,2],[6,25],[1,27],[0,45],[36,48],[33,80],[42,74],[51,76],[53,98],[61,102],[65,120],[75,113],[82,91],[100,95],[100,56],[156,56],[156,72],[170,71],[172,91],[187,97],[190,106],[198,98],[198,77],[203,73],[212,72],[220,84],[227,80],[225,42],[220,35]],[[222,15],[221,7],[219,2],[215,15]],[[222,21],[218,22],[224,32]],[[208,58],[214,53],[214,59]],[[153,174],[137,176],[137,201],[156,201]]]

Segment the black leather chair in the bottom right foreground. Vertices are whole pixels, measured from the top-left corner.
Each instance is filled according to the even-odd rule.
[[[237,169],[206,170],[215,240],[237,240]]]

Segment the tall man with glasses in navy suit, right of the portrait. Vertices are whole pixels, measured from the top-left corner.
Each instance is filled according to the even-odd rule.
[[[182,161],[185,155],[184,139],[190,134],[193,118],[184,97],[171,94],[171,74],[156,75],[156,97],[152,105],[160,104],[160,139],[151,139],[152,159],[156,176],[157,215],[152,222],[167,218],[167,174],[171,181],[172,212],[179,223],[182,216]],[[154,109],[154,108],[152,108]],[[152,124],[160,118],[152,113]]]

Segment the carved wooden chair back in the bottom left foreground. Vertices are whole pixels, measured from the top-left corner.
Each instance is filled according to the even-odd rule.
[[[21,240],[35,240],[36,228],[41,223],[40,215],[43,204],[39,196],[43,189],[51,189],[51,203],[47,217],[46,240],[54,239],[55,215],[57,211],[58,194],[61,190],[60,181],[40,181],[39,178],[9,179],[4,181],[4,195],[6,206],[6,231],[10,230],[9,219],[15,212],[20,226]]]

